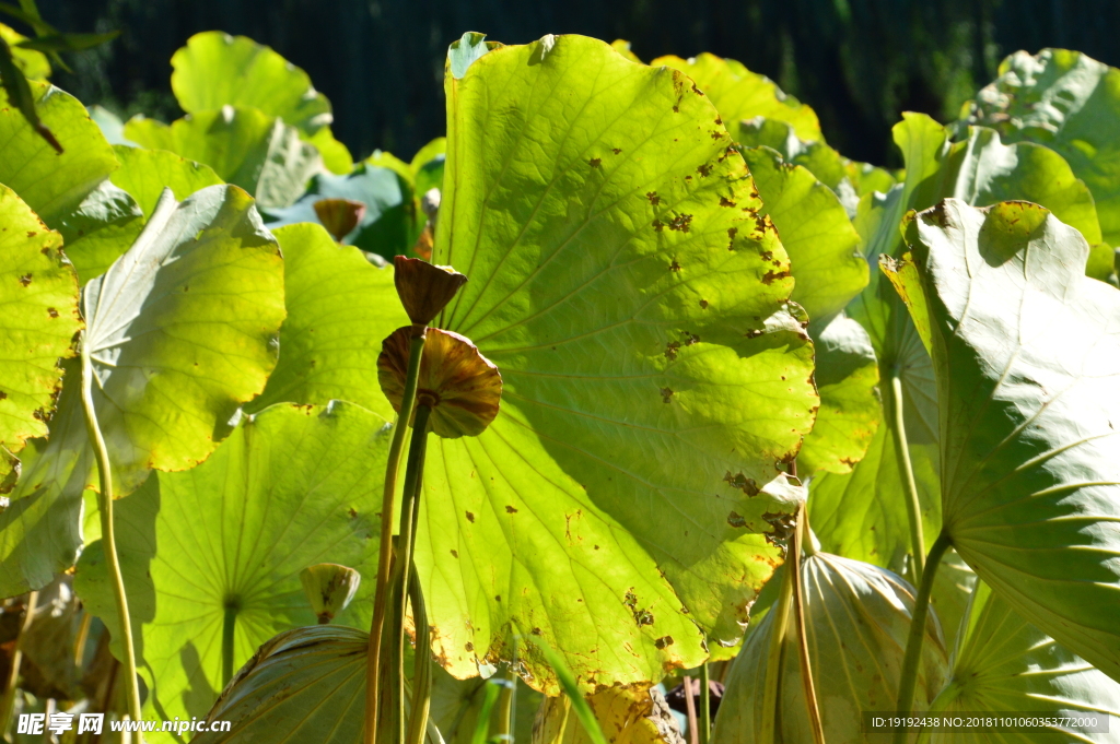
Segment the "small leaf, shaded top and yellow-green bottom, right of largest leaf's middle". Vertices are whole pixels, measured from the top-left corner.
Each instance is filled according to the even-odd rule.
[[[875,349],[864,327],[843,316],[818,335],[814,347],[821,407],[801,445],[797,468],[806,475],[851,472],[867,454],[881,416]]]

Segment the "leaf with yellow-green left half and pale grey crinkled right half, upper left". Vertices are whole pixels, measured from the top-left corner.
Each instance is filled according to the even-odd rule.
[[[301,142],[293,126],[256,109],[199,111],[170,125],[133,116],[124,124],[124,135],[140,147],[170,150],[209,166],[265,208],[296,201],[323,167],[318,151]]]

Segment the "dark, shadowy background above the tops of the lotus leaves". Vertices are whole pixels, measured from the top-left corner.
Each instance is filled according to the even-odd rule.
[[[123,31],[72,55],[75,73],[54,77],[87,104],[179,116],[171,54],[221,29],[306,69],[356,157],[382,148],[409,159],[444,133],[444,55],[466,30],[505,44],[625,38],[645,62],[732,57],[812,105],[842,153],[889,166],[899,164],[889,139],[899,112],[954,119],[1016,49],[1060,46],[1120,64],[1120,0],[39,0],[39,9],[60,30]]]

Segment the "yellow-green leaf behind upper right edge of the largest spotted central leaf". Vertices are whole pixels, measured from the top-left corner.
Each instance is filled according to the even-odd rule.
[[[747,149],[743,158],[763,200],[759,213],[774,220],[790,254],[792,299],[823,328],[867,286],[859,234],[836,194],[805,168],[765,147]]]

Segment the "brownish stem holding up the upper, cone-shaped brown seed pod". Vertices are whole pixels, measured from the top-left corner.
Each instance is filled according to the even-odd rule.
[[[412,337],[409,347],[409,366],[404,374],[404,395],[401,412],[393,427],[385,464],[385,487],[381,500],[381,546],[377,556],[377,587],[373,600],[373,621],[370,623],[370,648],[365,668],[365,744],[376,744],[377,705],[380,701],[381,641],[385,628],[385,610],[390,605],[389,578],[393,564],[393,506],[396,499],[396,473],[400,471],[404,434],[412,420],[420,377],[420,359],[427,331]]]

